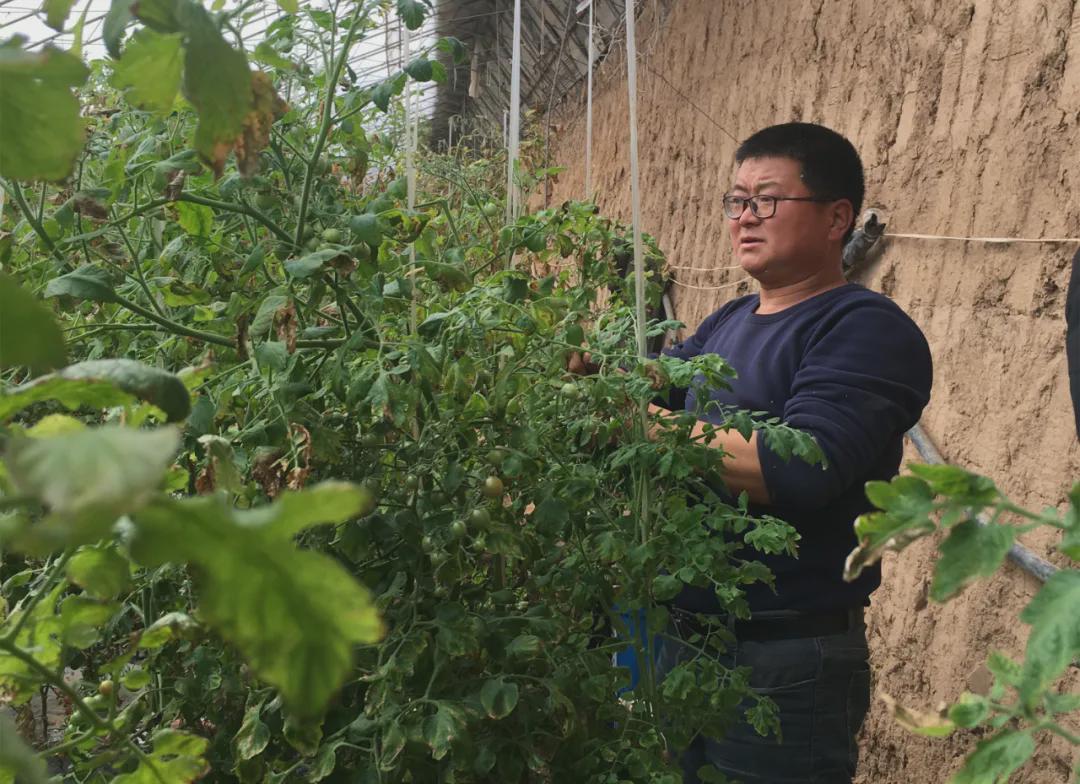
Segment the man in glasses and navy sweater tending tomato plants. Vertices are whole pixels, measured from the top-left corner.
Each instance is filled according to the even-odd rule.
[[[787,123],[751,136],[735,162],[724,212],[735,258],[760,293],[726,303],[666,353],[727,359],[739,374],[733,390],[711,397],[811,433],[828,463],[785,462],[756,435],[747,442],[734,431],[712,442],[730,456],[731,492],[745,490],[753,513],[787,521],[800,541],[797,559],[760,558],[775,592],[751,586],[752,618],[731,624],[738,644],[726,657],[752,667],[752,685],[779,705],[782,743],[746,725],[698,738],[681,759],[685,781],[715,766],[745,784],[850,783],[869,704],[863,607],[880,570],[845,583],[843,563],[856,543],[852,523],[870,509],[865,483],[895,475],[904,432],[930,398],[930,350],[890,299],[841,274],[864,192],[851,143],[821,125]],[[698,410],[692,392],[674,397],[681,400],[672,407]],[[704,416],[718,423],[721,415]],[[673,603],[661,674],[688,655],[679,638],[700,631],[704,616],[723,621],[725,608],[712,591],[687,586]]]

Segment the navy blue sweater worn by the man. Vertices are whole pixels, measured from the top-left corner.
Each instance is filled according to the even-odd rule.
[[[724,405],[768,411],[811,433],[828,467],[785,462],[758,440],[772,503],[752,513],[787,521],[800,536],[798,558],[755,557],[769,566],[777,592],[750,586],[752,610],[827,611],[867,604],[881,581],[877,567],[845,583],[855,546],[852,524],[872,509],[863,487],[900,468],[904,432],[930,400],[930,348],[919,327],[880,294],[847,284],[779,313],[758,315],[758,296],[740,297],[708,316],[684,343],[664,353],[725,357],[739,374],[732,391],[713,390]],[[693,392],[676,390],[671,408],[696,410]],[[705,415],[719,423],[723,414]],[[694,612],[721,612],[708,589],[688,586],[674,601]]]

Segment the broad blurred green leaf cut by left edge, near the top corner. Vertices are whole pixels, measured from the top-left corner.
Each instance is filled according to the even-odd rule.
[[[25,52],[19,38],[0,44],[0,176],[58,180],[71,173],[85,126],[71,89],[89,75],[54,46]]]

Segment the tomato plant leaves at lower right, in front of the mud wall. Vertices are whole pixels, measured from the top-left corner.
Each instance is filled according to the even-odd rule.
[[[939,530],[947,536],[930,584],[935,601],[948,601],[973,581],[993,575],[1016,538],[1035,527],[1061,530],[1059,551],[1072,563],[1080,559],[1080,485],[1069,494],[1064,514],[1054,508],[1037,513],[1010,501],[987,477],[955,465],[909,469],[909,475],[891,483],[867,484],[867,496],[879,511],[855,523],[861,545],[848,558],[846,577],[858,577],[886,551],[901,551]],[[1080,711],[1080,697],[1055,688],[1080,658],[1078,600],[1080,570],[1058,569],[1021,612],[1020,620],[1031,626],[1024,660],[997,651],[989,655],[986,666],[994,682],[988,693],[964,692],[937,713],[889,701],[896,720],[918,734],[941,738],[972,728],[991,732],[953,776],[954,784],[1008,780],[1035,753],[1039,733],[1080,745],[1080,736],[1068,729]]]

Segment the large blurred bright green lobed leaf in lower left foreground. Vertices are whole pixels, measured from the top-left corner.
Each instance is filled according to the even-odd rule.
[[[343,567],[284,536],[314,522],[293,506],[303,495],[282,517],[258,525],[220,497],[159,499],[134,517],[132,554],[148,566],[198,567],[201,617],[281,691],[292,713],[312,718],[351,672],[352,646],[377,641],[382,624],[367,591]],[[313,505],[327,516],[341,514],[337,492],[327,498]]]

